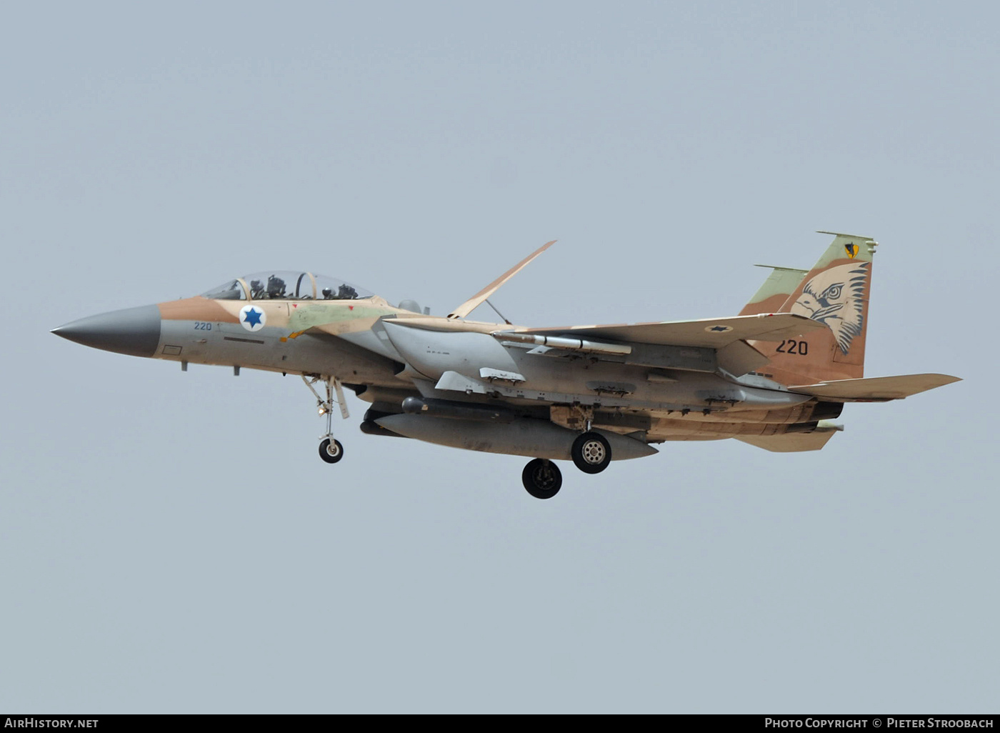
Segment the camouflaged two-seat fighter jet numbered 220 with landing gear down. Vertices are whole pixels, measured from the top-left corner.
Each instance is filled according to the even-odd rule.
[[[517,326],[467,318],[548,242],[447,316],[391,305],[339,278],[264,272],[192,298],[83,318],[53,333],[133,356],[301,376],[325,417],[319,455],[344,456],[335,406],[369,403],[368,435],[526,456],[522,483],[548,499],[555,461],[585,473],[675,440],[736,438],[819,450],[847,402],[886,402],[958,381],[864,377],[869,237],[835,232],[811,270],[772,267],[738,315],[637,324]],[[494,309],[495,310],[495,309]]]

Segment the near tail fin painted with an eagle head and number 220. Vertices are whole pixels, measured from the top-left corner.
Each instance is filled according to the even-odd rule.
[[[833,242],[778,312],[808,316],[829,330],[802,340],[753,344],[771,360],[768,372],[785,384],[802,377],[822,382],[864,376],[872,255],[878,243],[870,237],[820,234],[833,234]]]

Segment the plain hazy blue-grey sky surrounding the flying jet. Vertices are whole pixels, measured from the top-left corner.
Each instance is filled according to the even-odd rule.
[[[4,3],[0,709],[996,711],[992,3]],[[818,453],[525,459],[49,329],[307,269],[525,325],[708,318],[871,236]],[[489,317],[489,311],[477,311]]]

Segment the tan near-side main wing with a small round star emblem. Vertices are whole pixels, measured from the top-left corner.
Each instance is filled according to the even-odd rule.
[[[740,339],[781,341],[825,328],[826,326],[819,321],[795,313],[761,313],[752,316],[705,318],[697,321],[528,328],[518,329],[518,333],[542,336],[566,334],[614,341],[631,341],[639,344],[721,349]]]

